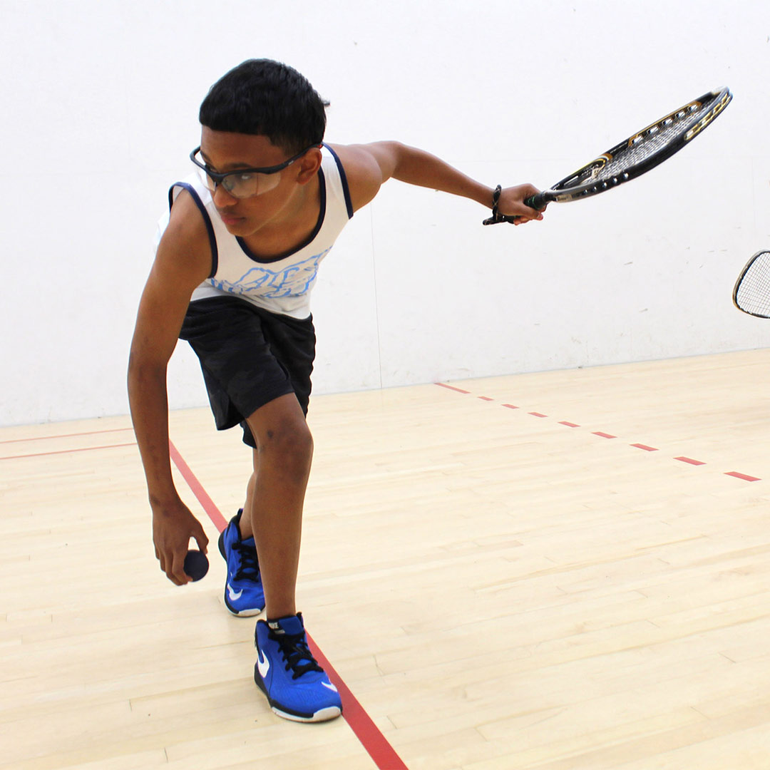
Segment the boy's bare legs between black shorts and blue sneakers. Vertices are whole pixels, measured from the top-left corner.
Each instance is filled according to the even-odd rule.
[[[256,541],[267,617],[281,618],[296,613],[302,511],[313,437],[293,393],[266,403],[247,422],[257,449],[241,534],[253,534]]]

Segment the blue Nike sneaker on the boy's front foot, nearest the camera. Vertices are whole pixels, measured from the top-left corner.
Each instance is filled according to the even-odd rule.
[[[254,681],[277,715],[325,721],[342,714],[340,693],[307,646],[302,614],[256,621],[254,643]]]

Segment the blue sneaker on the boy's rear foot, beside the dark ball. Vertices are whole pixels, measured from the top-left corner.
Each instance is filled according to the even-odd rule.
[[[239,618],[258,615],[265,608],[265,591],[253,537],[241,540],[238,524],[243,508],[219,535],[219,553],[227,562],[225,605]]]

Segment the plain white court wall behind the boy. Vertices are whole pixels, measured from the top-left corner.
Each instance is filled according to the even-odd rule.
[[[711,88],[681,154],[546,221],[389,182],[321,270],[316,393],[746,349],[770,248],[766,2],[0,0],[0,424],[126,413],[169,183],[209,85],[252,56],[332,102],[327,139],[400,139],[490,185],[548,186]],[[174,407],[205,403],[181,343]]]

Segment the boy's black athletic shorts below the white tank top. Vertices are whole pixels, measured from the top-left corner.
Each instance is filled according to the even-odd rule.
[[[246,417],[287,393],[307,413],[316,355],[313,317],[270,313],[235,296],[189,304],[179,338],[195,350],[217,430],[240,423],[243,443],[256,447]]]

